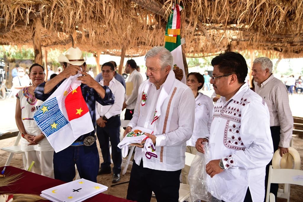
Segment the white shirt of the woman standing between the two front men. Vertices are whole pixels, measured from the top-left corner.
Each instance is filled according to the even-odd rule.
[[[186,141],[186,146],[195,146],[198,138],[209,136],[212,122],[213,101],[210,97],[199,93],[196,97],[195,125],[192,136]]]

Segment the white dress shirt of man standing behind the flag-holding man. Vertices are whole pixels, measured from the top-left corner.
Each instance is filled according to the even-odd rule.
[[[104,85],[104,79],[99,82],[102,86]],[[115,95],[115,102],[113,105],[106,105],[103,106],[100,103],[96,102],[96,119],[99,116],[105,116],[109,119],[112,116],[118,115],[122,113],[122,106],[123,106],[123,97],[125,94],[124,86],[118,82],[115,77],[109,82],[109,89],[111,89],[112,94]]]

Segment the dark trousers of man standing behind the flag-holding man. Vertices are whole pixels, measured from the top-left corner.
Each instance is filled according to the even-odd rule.
[[[105,123],[105,127],[101,128],[96,126],[97,137],[101,148],[101,153],[103,157],[103,163],[101,163],[101,169],[110,169],[111,165],[111,155],[109,152],[109,141],[111,141],[112,146],[112,160],[114,163],[113,173],[119,174],[121,172],[122,163],[122,152],[118,147],[120,142],[120,126],[121,120],[120,116],[111,117]]]

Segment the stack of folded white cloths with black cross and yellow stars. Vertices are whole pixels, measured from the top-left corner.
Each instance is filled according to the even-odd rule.
[[[40,196],[53,202],[78,202],[93,197],[107,189],[108,187],[102,184],[82,178],[43,190]]]

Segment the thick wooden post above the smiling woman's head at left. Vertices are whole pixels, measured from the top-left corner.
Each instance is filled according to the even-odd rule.
[[[42,65],[42,49],[41,49],[41,18],[35,18],[33,23],[33,45],[35,53],[35,63]],[[46,66],[47,69],[47,66]]]

